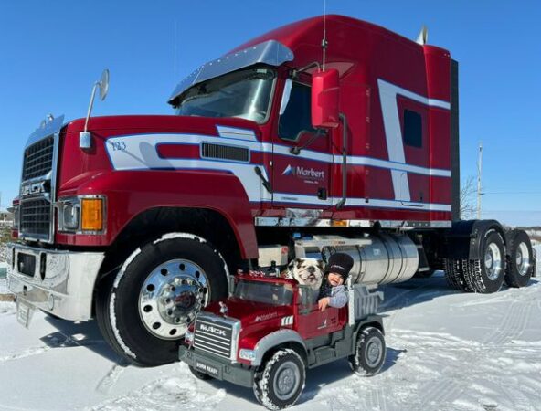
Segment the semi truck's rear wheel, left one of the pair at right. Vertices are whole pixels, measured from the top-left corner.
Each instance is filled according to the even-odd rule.
[[[500,290],[505,276],[505,247],[500,233],[488,230],[481,241],[480,259],[463,260],[462,270],[473,292],[490,294]]]

